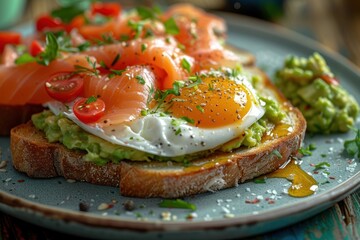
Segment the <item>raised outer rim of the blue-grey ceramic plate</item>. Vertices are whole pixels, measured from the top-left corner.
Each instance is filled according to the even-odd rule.
[[[340,64],[341,67],[344,67],[350,73],[360,75],[360,69],[354,63],[350,62],[347,58],[340,55],[337,52],[331,51],[325,48],[321,43],[316,42],[304,35],[296,33],[290,29],[282,27],[280,25],[265,22],[263,20],[255,19],[252,17],[241,16],[235,13],[225,13],[225,12],[216,12],[219,16],[226,16],[227,19],[237,19],[236,21],[232,21],[231,24],[235,26],[244,27],[244,23],[249,26],[245,26],[246,28],[251,28],[255,31],[259,31],[263,34],[270,34],[272,36],[280,37],[286,41],[291,41],[293,43],[299,44],[308,49],[312,49],[315,51],[319,51],[321,53],[325,53],[326,58],[331,58],[337,64]],[[239,21],[241,19],[241,21]],[[319,193],[313,197],[310,197],[312,201],[298,201],[296,203],[291,203],[291,208],[286,208],[286,211],[279,211],[283,209],[284,206],[287,206],[290,203],[282,204],[279,208],[267,209],[263,210],[261,214],[247,214],[242,215],[240,217],[235,218],[223,218],[216,219],[211,221],[184,221],[184,222],[166,222],[163,220],[152,220],[149,222],[132,220],[132,219],[123,219],[121,216],[101,216],[95,214],[84,213],[80,211],[74,211],[69,209],[62,209],[60,207],[52,207],[46,204],[35,203],[25,198],[21,198],[12,194],[9,194],[0,189],[0,202],[5,205],[14,208],[15,210],[24,211],[28,214],[43,214],[44,217],[59,217],[57,214],[62,213],[64,218],[58,219],[62,221],[66,221],[70,218],[70,220],[74,220],[74,216],[76,217],[77,223],[85,224],[89,226],[97,226],[104,228],[113,228],[113,229],[127,229],[127,230],[143,230],[143,231],[171,231],[171,230],[207,230],[213,228],[221,228],[221,227],[237,227],[243,224],[248,225],[256,224],[259,222],[267,222],[279,219],[281,217],[289,216],[290,214],[298,213],[299,211],[306,211],[314,208],[314,206],[329,202],[331,205],[337,201],[344,199],[346,196],[355,192],[357,189],[360,189],[360,171],[355,173],[350,178],[346,179],[342,183],[334,186],[333,188],[326,190],[325,192]],[[309,198],[306,198],[309,199]],[[17,204],[25,204],[26,207],[16,206]],[[305,203],[305,204],[304,204]],[[24,206],[24,205],[23,205]],[[294,207],[295,206],[295,207]],[[32,210],[33,213],[28,210]],[[39,211],[43,210],[43,212]],[[49,214],[49,211],[53,211],[53,214]],[[277,213],[277,214],[274,214]],[[71,217],[69,217],[71,216]],[[97,224],[92,223],[92,221],[83,221],[84,219],[94,220]],[[246,220],[245,220],[246,219]],[[104,223],[103,226],[99,226],[99,221]],[[109,222],[110,221],[110,222]],[[109,225],[109,223],[111,223]],[[141,223],[141,224],[139,224]],[[129,225],[130,224],[130,225]]]

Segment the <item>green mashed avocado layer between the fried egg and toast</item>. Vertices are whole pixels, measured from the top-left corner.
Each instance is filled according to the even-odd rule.
[[[267,124],[273,124],[285,116],[280,106],[270,98],[262,98],[265,107],[265,115],[245,131],[241,138],[235,139],[218,149],[202,151],[179,157],[162,157],[142,152],[132,148],[112,144],[97,136],[94,136],[63,115],[54,115],[45,110],[32,116],[35,127],[43,131],[49,142],[61,142],[68,149],[84,151],[84,159],[96,164],[107,162],[119,163],[121,160],[132,161],[175,161],[187,163],[191,160],[210,155],[215,150],[232,151],[241,146],[253,147],[260,143],[262,136],[267,130]]]

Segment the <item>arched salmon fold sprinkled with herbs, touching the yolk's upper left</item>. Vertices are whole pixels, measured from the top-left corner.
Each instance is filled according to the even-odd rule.
[[[133,65],[149,65],[159,80],[159,88],[171,88],[176,80],[186,79],[189,72],[182,66],[186,61],[194,66],[192,57],[184,54],[171,38],[136,39],[129,42],[94,47],[84,54],[93,56],[111,69]],[[192,72],[192,68],[190,69]]]

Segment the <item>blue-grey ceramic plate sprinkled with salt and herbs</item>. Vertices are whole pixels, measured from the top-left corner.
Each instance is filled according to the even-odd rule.
[[[220,14],[228,22],[229,42],[252,52],[257,65],[269,76],[289,54],[308,56],[320,52],[343,86],[360,102],[359,71],[343,57],[325,51],[315,42],[283,28],[235,15]],[[357,127],[360,127],[359,121]],[[309,218],[345,198],[360,186],[360,164],[343,153],[343,141],[354,133],[306,137],[314,143],[312,156],[301,167],[320,183],[316,194],[293,198],[284,193],[285,179],[265,184],[247,182],[216,193],[186,198],[195,212],[159,208],[161,199],[135,199],[119,195],[117,188],[68,182],[63,178],[30,179],[11,166],[9,138],[1,138],[1,159],[8,161],[0,172],[0,210],[26,221],[88,238],[236,238],[264,233]],[[326,155],[326,157],[324,157]],[[326,173],[313,172],[327,161]],[[256,204],[246,203],[259,199]],[[122,203],[133,200],[136,209],[125,211]],[[271,200],[271,201],[269,201]],[[86,202],[89,212],[80,212]],[[112,207],[99,210],[101,204]],[[271,204],[270,204],[271,203]],[[104,205],[102,205],[104,206]]]

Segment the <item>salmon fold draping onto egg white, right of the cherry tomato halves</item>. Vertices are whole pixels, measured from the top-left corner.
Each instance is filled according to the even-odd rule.
[[[84,76],[84,96],[99,96],[106,106],[98,124],[108,126],[131,121],[147,108],[156,77],[149,66],[129,66],[121,75]]]

